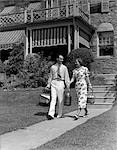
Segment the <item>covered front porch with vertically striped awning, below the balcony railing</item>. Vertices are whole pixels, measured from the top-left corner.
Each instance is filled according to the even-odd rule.
[[[77,17],[33,24],[26,29],[25,55],[45,49],[66,56],[72,49],[90,48],[93,33],[94,27]]]

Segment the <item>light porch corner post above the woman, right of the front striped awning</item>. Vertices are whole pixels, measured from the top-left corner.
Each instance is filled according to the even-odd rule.
[[[74,49],[79,48],[79,27],[76,25],[75,19],[74,23]]]

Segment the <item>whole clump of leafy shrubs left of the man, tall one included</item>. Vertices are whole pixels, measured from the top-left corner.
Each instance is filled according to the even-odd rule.
[[[24,88],[45,86],[47,84],[50,66],[53,63],[41,53],[29,54],[24,60],[24,47],[22,44],[15,45],[8,60],[4,62],[7,77],[10,77],[11,74],[16,75],[19,87]]]

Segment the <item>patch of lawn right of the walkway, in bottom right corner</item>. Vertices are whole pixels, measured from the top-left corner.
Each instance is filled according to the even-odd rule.
[[[117,105],[35,150],[116,150]]]

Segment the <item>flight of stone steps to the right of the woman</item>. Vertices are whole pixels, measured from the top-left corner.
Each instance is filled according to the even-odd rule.
[[[99,75],[102,76],[102,75]],[[106,83],[104,85],[94,85],[93,94],[95,96],[95,103],[88,104],[88,107],[110,107],[116,98],[116,84],[115,75],[103,75]],[[90,93],[90,92],[89,92]]]

